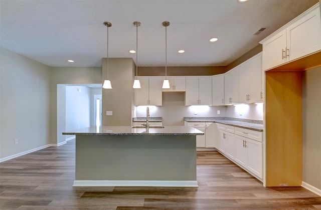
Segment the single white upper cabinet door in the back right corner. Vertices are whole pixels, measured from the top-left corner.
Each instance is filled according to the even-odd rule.
[[[212,77],[212,105],[224,105],[224,75]]]

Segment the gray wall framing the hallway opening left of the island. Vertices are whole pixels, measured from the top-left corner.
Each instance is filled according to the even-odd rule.
[[[53,67],[51,72],[51,143],[59,144],[65,141],[62,132],[65,131],[65,116],[63,111],[57,115],[57,84],[101,84],[100,67]],[[63,100],[63,99],[61,99]],[[59,102],[59,100],[58,100]],[[61,102],[62,103],[62,102]],[[59,103],[59,104],[61,104]],[[57,116],[59,122],[57,123]]]

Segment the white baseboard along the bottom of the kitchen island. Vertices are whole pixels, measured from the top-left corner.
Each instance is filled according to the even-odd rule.
[[[167,186],[198,187],[197,181],[150,181],[150,180],[75,180],[73,186]]]

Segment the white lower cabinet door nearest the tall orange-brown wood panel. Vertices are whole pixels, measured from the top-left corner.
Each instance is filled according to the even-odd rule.
[[[247,147],[247,168],[256,174],[258,177],[263,178],[263,165],[262,165],[262,142],[246,139]]]

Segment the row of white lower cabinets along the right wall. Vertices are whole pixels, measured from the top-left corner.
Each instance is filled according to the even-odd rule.
[[[263,179],[263,133],[220,123],[217,129],[220,138],[217,148],[226,157]]]

